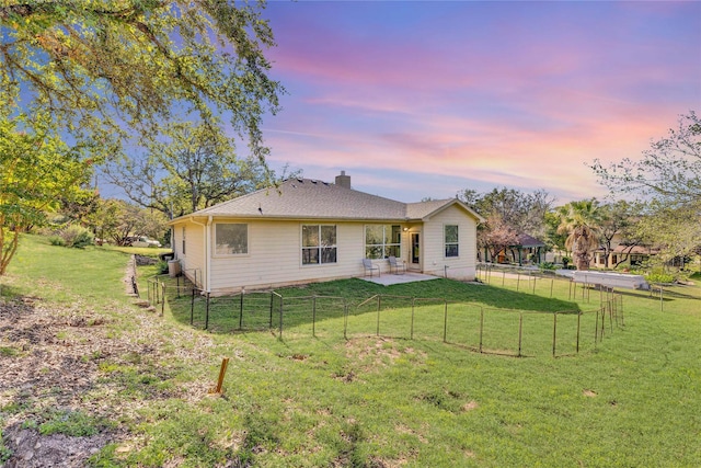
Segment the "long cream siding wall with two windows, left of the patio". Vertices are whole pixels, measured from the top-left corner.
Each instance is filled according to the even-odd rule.
[[[227,222],[218,219],[217,222]],[[260,221],[248,224],[248,253],[211,258],[211,284],[215,293],[264,289],[294,284],[361,276],[365,233],[361,222]],[[301,226],[336,226],[336,263],[302,265]],[[214,244],[215,228],[211,229]],[[189,246],[188,246],[189,247]],[[387,263],[387,261],[383,261]],[[383,270],[386,270],[383,267]]]

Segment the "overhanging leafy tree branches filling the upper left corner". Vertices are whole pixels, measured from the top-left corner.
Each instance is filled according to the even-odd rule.
[[[15,3],[15,4],[12,4]],[[231,118],[264,158],[260,123],[281,85],[267,76],[274,45],[263,4],[207,1],[3,2],[0,92],[111,156],[153,137],[173,114],[198,115],[223,134]],[[14,102],[16,109],[20,103]]]

